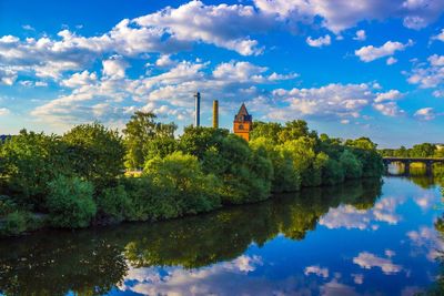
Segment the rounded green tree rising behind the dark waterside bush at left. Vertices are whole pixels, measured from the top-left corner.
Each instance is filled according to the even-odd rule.
[[[118,131],[100,123],[81,124],[63,135],[75,174],[102,188],[123,173],[124,146]]]

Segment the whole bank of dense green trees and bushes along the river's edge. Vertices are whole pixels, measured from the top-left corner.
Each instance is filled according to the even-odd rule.
[[[317,135],[301,120],[254,122],[250,142],[224,129],[189,126],[179,137],[175,130],[135,112],[122,134],[92,123],[62,136],[22,130],[6,139],[0,237],[176,218],[384,171],[370,139]]]

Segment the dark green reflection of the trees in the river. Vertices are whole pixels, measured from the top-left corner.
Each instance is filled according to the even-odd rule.
[[[261,246],[278,234],[303,239],[330,207],[371,208],[381,185],[364,180],[152,225],[48,231],[0,242],[0,293],[101,295],[123,279],[128,264],[195,268],[233,259],[252,243]]]

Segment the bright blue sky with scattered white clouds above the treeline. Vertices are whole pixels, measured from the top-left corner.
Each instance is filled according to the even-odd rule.
[[[1,0],[0,134],[137,110],[231,129],[303,119],[381,147],[444,142],[443,0]]]

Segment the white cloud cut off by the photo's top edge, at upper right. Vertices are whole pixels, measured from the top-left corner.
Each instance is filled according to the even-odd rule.
[[[254,0],[254,3],[264,13],[293,22],[313,23],[320,17],[322,25],[334,33],[361,21],[387,18],[401,18],[405,27],[421,29],[437,20],[444,11],[441,0]]]

